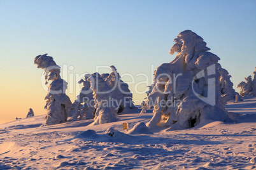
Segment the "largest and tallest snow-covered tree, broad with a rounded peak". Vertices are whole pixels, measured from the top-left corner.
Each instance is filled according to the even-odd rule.
[[[148,108],[154,107],[148,128],[192,128],[206,121],[231,121],[221,94],[220,58],[208,52],[203,38],[191,30],[180,32],[174,42],[170,54],[178,52],[176,57],[160,65],[154,74],[154,87],[146,103]],[[204,70],[213,78],[203,76]]]

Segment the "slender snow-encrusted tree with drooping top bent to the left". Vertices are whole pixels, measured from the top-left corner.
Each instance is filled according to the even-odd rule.
[[[39,69],[45,70],[45,84],[52,81],[48,86],[48,94],[45,97],[45,109],[47,110],[45,126],[66,122],[71,101],[66,95],[68,83],[61,79],[59,65],[48,54],[36,56],[34,64]]]

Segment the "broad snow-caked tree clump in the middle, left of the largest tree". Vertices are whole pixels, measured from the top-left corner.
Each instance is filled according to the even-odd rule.
[[[128,84],[120,79],[121,77],[113,65],[110,68],[113,71],[111,74],[100,75],[96,72],[89,77],[96,108],[93,124],[117,121],[118,113],[135,108]]]

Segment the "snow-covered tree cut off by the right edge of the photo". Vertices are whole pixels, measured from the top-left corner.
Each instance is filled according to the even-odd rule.
[[[245,77],[246,82],[241,81],[238,84],[238,88],[240,88],[239,95],[241,95],[242,97],[256,96],[256,67],[253,75],[253,79],[252,76],[249,75],[248,77]]]

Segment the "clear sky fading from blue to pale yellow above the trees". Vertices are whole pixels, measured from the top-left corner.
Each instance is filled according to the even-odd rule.
[[[221,58],[236,89],[256,67],[255,16],[256,1],[0,0],[0,93],[5,99],[0,113],[25,117],[34,107],[35,114],[45,114],[43,70],[33,65],[37,55],[48,53],[58,65],[73,66],[68,75],[74,77],[96,72],[97,65],[151,77],[151,65],[156,69],[173,60],[173,39],[186,29],[203,37]],[[139,85],[141,91],[145,86]],[[75,100],[75,94],[68,95]],[[24,96],[25,103],[20,101]],[[6,111],[11,102],[20,110]]]

